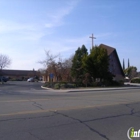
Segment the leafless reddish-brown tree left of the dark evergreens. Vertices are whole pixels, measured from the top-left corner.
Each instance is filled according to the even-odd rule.
[[[45,51],[46,59],[40,61],[46,67],[45,76],[49,76],[50,73],[54,75],[55,81],[70,81],[70,68],[72,65],[72,57],[62,60],[59,55],[52,55],[50,51]]]

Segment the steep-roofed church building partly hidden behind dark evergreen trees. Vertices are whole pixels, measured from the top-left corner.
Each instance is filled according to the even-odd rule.
[[[123,80],[125,75],[115,48],[100,44],[99,47],[105,48],[109,56],[109,71],[115,76],[114,80]]]

